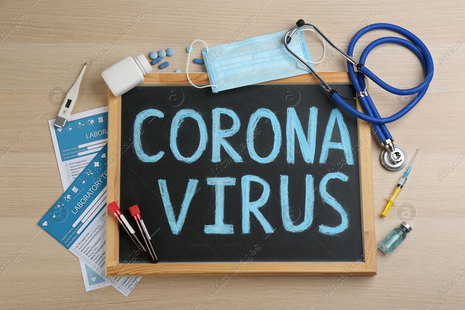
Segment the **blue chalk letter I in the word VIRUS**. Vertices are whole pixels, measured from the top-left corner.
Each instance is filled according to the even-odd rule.
[[[205,225],[206,234],[233,234],[233,225],[225,224],[225,186],[236,185],[236,178],[207,178],[206,184],[215,185],[215,224]]]

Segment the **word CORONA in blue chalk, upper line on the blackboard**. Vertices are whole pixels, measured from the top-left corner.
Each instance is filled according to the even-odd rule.
[[[233,125],[229,129],[221,129],[220,124],[220,115],[223,114],[232,119]],[[133,138],[134,138],[134,149],[137,154],[137,157],[148,163],[155,163],[165,154],[164,151],[159,151],[155,155],[147,155],[142,147],[140,140],[140,132],[142,129],[142,123],[145,119],[149,117],[158,117],[162,119],[164,113],[156,109],[148,109],[140,112],[134,121],[133,128]],[[237,114],[230,109],[226,108],[215,108],[212,111],[213,116],[213,128],[212,128],[212,162],[218,163],[221,161],[220,158],[220,148],[223,147],[226,153],[232,158],[236,163],[243,162],[243,158],[236,152],[231,144],[226,141],[226,138],[232,137],[235,133],[239,131],[240,121]],[[318,117],[318,108],[311,107],[308,119],[308,129],[307,136],[305,136],[301,121],[297,116],[297,113],[293,107],[287,108],[287,118],[286,118],[286,159],[289,164],[294,164],[295,161],[295,134],[297,134],[297,140],[299,142],[300,150],[302,157],[307,164],[312,164],[315,157],[316,149],[316,137],[317,137],[317,117]],[[178,130],[181,126],[181,123],[186,118],[192,118],[197,122],[200,132],[199,145],[196,151],[190,157],[184,157],[179,153],[178,149]],[[254,145],[254,132],[259,123],[259,120],[262,118],[267,118],[270,120],[273,131],[273,147],[270,154],[266,157],[260,157]],[[339,127],[339,136],[341,142],[332,142],[332,136],[334,134],[334,127],[338,124]],[[295,132],[295,133],[294,133]],[[174,157],[182,162],[192,164],[202,156],[202,153],[206,149],[206,144],[208,142],[208,132],[206,124],[202,116],[192,110],[192,109],[182,109],[176,113],[172,122],[170,130],[170,149],[173,152]],[[282,133],[281,125],[276,115],[269,109],[260,108],[254,112],[249,119],[246,130],[246,144],[247,149],[254,161],[260,164],[271,163],[276,159],[279,154],[279,150],[282,144]],[[345,125],[344,118],[342,117],[339,109],[333,109],[329,117],[328,123],[326,125],[325,135],[323,138],[323,143],[321,146],[321,155],[319,158],[319,163],[326,163],[328,158],[329,151],[331,149],[339,149],[344,151],[345,161],[348,165],[353,165],[353,155],[351,152],[351,139],[349,136],[349,131]]]

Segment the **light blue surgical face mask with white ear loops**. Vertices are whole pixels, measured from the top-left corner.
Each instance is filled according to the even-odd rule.
[[[292,52],[309,63],[321,62],[323,59],[319,62],[311,60],[302,30],[292,35],[289,47]],[[283,38],[286,32],[287,30],[284,30],[210,48],[204,41],[195,40],[191,47],[196,41],[201,41],[207,46],[202,49],[202,54],[208,78],[212,84],[196,86],[189,79],[190,53],[187,57],[187,79],[197,88],[212,87],[213,92],[219,92],[309,73],[310,71],[302,66],[284,47]]]

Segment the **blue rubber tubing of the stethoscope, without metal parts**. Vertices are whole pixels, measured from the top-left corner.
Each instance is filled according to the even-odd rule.
[[[396,43],[396,44],[400,44],[402,46],[407,47],[413,53],[415,53],[415,55],[417,55],[417,57],[421,61],[421,64],[423,65],[423,68],[425,71],[425,79],[423,80],[423,82],[421,82],[416,87],[413,87],[410,89],[399,89],[399,88],[390,86],[389,84],[385,83],[382,79],[379,79],[374,73],[372,73],[365,66],[359,66],[358,68],[359,74],[357,75],[355,73],[355,68],[352,65],[352,63],[347,61],[347,69],[349,70],[349,76],[355,88],[355,91],[359,93],[365,90],[366,85],[365,85],[364,76],[366,76],[388,92],[391,92],[393,94],[400,95],[400,96],[413,95],[413,94],[416,94],[416,96],[410,101],[408,105],[402,108],[399,112],[395,113],[392,116],[385,117],[385,118],[382,118],[379,115],[379,112],[376,109],[376,106],[374,105],[373,100],[370,97],[370,95],[359,98],[363,108],[365,109],[366,114],[359,112],[357,109],[350,106],[347,102],[345,102],[344,99],[341,98],[341,96],[339,96],[339,93],[337,92],[334,92],[332,94],[332,99],[334,99],[347,112],[353,114],[359,119],[363,119],[367,122],[372,123],[373,129],[378,135],[378,139],[380,141],[385,141],[386,139],[392,138],[392,135],[388,131],[385,124],[391,123],[395,120],[400,119],[407,112],[412,110],[412,108],[416,106],[417,103],[419,103],[419,101],[423,98],[423,96],[425,96],[425,93],[428,90],[428,86],[430,85],[430,82],[433,78],[434,65],[433,65],[433,59],[431,57],[431,53],[429,52],[425,44],[416,35],[406,30],[405,28],[392,25],[392,24],[387,24],[387,23],[373,24],[373,25],[369,25],[361,29],[358,33],[356,33],[353,36],[352,40],[350,41],[349,46],[347,48],[347,55],[352,57],[353,49],[357,41],[365,33],[372,31],[372,30],[376,30],[376,29],[385,29],[385,30],[395,31],[397,33],[404,35],[406,38],[412,40],[413,43],[408,40],[397,38],[397,37],[384,37],[384,38],[374,40],[372,43],[370,43],[368,46],[365,47],[365,50],[360,55],[359,63],[364,64],[366,57],[368,56],[368,53],[370,53],[372,49],[375,48],[376,46],[379,46],[380,44],[383,44],[383,43]]]

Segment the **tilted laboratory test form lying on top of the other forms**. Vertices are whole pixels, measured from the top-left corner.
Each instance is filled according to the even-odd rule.
[[[106,145],[37,223],[128,296],[142,277],[105,277]]]

